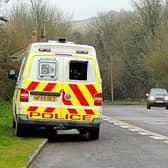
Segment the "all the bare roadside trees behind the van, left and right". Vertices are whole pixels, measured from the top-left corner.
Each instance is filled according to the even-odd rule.
[[[10,63],[7,56],[31,42],[34,26],[37,40],[44,35],[46,40],[66,37],[95,46],[105,100],[140,100],[152,87],[167,88],[168,2],[133,2],[133,12],[99,13],[75,29],[71,15],[49,5],[48,0],[16,1],[7,12],[8,23],[0,24],[0,97],[12,97],[15,83],[7,79],[7,71],[20,65]]]

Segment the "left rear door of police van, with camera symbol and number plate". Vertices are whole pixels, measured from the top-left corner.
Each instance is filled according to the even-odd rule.
[[[62,57],[34,56],[24,89],[29,100],[24,102],[24,113],[31,119],[60,120],[62,105]],[[22,90],[21,90],[22,92]],[[21,93],[22,94],[22,93]]]

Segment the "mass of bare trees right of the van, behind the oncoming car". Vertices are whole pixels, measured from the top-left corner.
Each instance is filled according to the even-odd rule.
[[[78,32],[97,49],[105,100],[144,99],[152,87],[168,88],[168,1],[133,2],[134,12],[100,13]]]

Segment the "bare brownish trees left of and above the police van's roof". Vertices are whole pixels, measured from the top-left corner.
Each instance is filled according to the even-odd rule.
[[[8,18],[9,22],[4,27],[0,25],[0,97],[3,98],[12,96],[13,89],[9,88],[15,85],[7,79],[9,67],[19,69],[20,65],[16,61],[8,62],[7,56],[25,49],[31,43],[34,26],[38,28],[38,40],[41,40],[44,31],[49,39],[70,36],[71,33],[70,17],[44,4],[44,1],[17,1],[9,9]]]

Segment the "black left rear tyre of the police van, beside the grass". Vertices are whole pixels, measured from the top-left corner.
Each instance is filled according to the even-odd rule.
[[[25,125],[16,123],[15,135],[18,137],[25,137],[28,134],[28,129]]]

